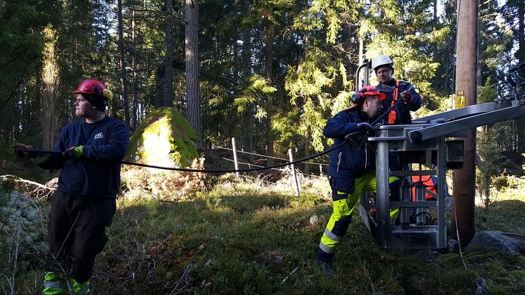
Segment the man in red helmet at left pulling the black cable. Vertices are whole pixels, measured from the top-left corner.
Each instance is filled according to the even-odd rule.
[[[75,91],[77,120],[63,127],[42,168],[61,168],[58,188],[51,196],[49,253],[46,256],[44,294],[89,294],[96,254],[108,241],[120,189],[120,161],[129,147],[129,130],[106,115],[113,94],[99,80],[89,79]],[[39,156],[22,145],[20,156]]]

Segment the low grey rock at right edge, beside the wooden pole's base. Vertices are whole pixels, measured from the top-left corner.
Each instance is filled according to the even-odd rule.
[[[525,253],[525,238],[520,234],[511,234],[500,231],[476,232],[467,250],[486,248],[494,251],[503,251],[514,254]]]

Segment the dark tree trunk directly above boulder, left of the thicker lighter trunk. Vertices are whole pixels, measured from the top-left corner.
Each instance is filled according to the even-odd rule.
[[[164,56],[163,106],[173,106],[173,0],[166,0],[166,54]]]

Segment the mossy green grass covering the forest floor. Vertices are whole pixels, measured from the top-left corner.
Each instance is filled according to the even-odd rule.
[[[118,199],[110,241],[97,256],[95,293],[474,294],[481,278],[490,294],[525,292],[522,256],[475,249],[464,253],[465,269],[460,256],[442,251],[421,263],[415,251],[379,248],[357,213],[337,248],[336,275],[325,277],[314,261],[331,213],[325,182],[312,181],[300,197],[231,175],[184,201],[129,192]],[[487,213],[479,208],[476,226],[523,233],[524,206],[512,200]],[[319,221],[312,224],[313,215]],[[43,258],[23,253],[16,294],[38,293]],[[0,290],[8,287],[0,280]]]

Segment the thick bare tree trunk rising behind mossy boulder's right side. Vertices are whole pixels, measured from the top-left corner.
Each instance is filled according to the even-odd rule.
[[[202,143],[201,89],[198,80],[198,0],[186,1],[186,118]]]

